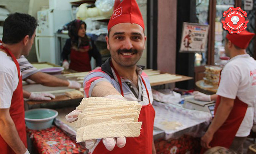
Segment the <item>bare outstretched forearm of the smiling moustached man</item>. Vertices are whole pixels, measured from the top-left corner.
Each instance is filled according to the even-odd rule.
[[[93,90],[92,96],[94,97],[104,97],[111,94],[119,94],[121,95],[109,82],[102,81],[97,83]]]

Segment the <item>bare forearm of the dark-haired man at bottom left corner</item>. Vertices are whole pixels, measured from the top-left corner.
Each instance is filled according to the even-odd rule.
[[[24,154],[26,152],[26,147],[21,141],[11,117],[7,117],[5,120],[0,119],[0,135],[15,153]]]

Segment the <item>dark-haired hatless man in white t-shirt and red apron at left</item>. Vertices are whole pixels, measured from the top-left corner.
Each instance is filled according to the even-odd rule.
[[[29,154],[25,128],[22,78],[17,59],[27,56],[37,20],[24,13],[9,14],[0,45],[0,153]]]

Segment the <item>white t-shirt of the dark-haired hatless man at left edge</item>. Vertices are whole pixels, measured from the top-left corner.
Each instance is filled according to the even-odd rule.
[[[17,67],[10,56],[0,51],[0,108],[11,106],[13,92],[19,83]]]

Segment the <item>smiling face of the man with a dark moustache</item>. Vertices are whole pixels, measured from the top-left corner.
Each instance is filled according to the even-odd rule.
[[[119,23],[110,29],[106,40],[112,59],[121,66],[131,67],[142,56],[146,36],[138,24]]]

